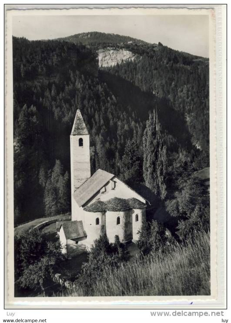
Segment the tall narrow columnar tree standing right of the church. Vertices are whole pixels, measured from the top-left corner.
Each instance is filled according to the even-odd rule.
[[[157,112],[149,114],[143,136],[145,184],[161,199],[166,196],[166,146],[163,144]]]

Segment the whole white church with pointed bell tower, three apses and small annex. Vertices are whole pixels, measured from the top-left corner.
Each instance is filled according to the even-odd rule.
[[[90,139],[80,110],[70,135],[71,221],[57,223],[64,253],[89,248],[100,234],[110,242],[136,241],[146,221],[146,200],[115,175],[98,169],[91,176]]]

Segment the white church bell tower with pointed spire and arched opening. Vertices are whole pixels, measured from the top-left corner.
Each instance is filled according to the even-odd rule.
[[[79,109],[70,135],[71,152],[71,208],[75,205],[73,193],[91,177],[90,138]]]

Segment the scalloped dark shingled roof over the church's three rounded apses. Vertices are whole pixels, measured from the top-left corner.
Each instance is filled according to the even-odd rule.
[[[108,201],[95,201],[84,208],[87,212],[103,212],[103,211],[125,211],[129,209],[142,209],[146,204],[136,198],[120,199],[114,197]]]

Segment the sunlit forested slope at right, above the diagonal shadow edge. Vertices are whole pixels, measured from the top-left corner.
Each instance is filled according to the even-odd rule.
[[[192,142],[209,150],[209,69],[204,60],[166,46],[140,51],[141,57],[122,65],[105,68],[142,91],[165,98],[185,117]],[[136,50],[136,52],[138,52]]]

